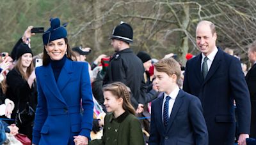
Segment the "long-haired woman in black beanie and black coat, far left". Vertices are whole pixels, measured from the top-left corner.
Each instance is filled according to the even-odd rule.
[[[26,111],[27,107],[30,107],[33,111],[36,108],[36,76],[31,63],[32,56],[33,53],[29,46],[21,43],[17,48],[15,67],[6,76],[6,83],[8,85],[6,97],[13,100],[15,104],[11,118],[17,120],[19,132],[28,135],[29,139],[32,139],[35,116],[31,115],[29,118],[22,118],[22,114],[20,116],[18,114]]]

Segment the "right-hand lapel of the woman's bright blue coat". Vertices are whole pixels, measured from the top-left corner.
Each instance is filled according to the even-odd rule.
[[[72,62],[70,60],[66,60],[63,68],[61,69],[60,76],[57,81],[58,88],[60,89],[60,92],[65,88],[68,81],[71,78],[71,74],[73,72],[72,69]]]

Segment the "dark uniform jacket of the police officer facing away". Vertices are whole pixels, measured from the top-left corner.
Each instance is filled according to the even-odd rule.
[[[145,85],[143,73],[145,72],[141,60],[134,55],[131,48],[116,52],[109,62],[103,84],[120,81],[129,86],[132,92],[132,106],[144,104],[143,87]],[[146,90],[147,91],[147,90]]]

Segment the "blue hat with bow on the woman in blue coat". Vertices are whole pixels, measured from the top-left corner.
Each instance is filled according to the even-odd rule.
[[[54,41],[56,39],[67,37],[67,30],[65,29],[67,24],[63,24],[61,26],[59,18],[51,18],[50,22],[51,27],[43,34],[44,45],[47,45],[49,42]]]

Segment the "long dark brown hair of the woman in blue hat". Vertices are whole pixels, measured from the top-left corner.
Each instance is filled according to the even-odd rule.
[[[70,60],[76,60],[76,57],[74,55],[74,53],[72,52],[70,46],[68,45],[68,39],[67,38],[63,38],[65,40],[65,43],[67,44],[67,58]],[[49,57],[49,55],[47,54],[46,50],[45,50],[45,45],[44,45],[44,54],[43,54],[43,66],[47,66],[50,63],[51,58]]]

